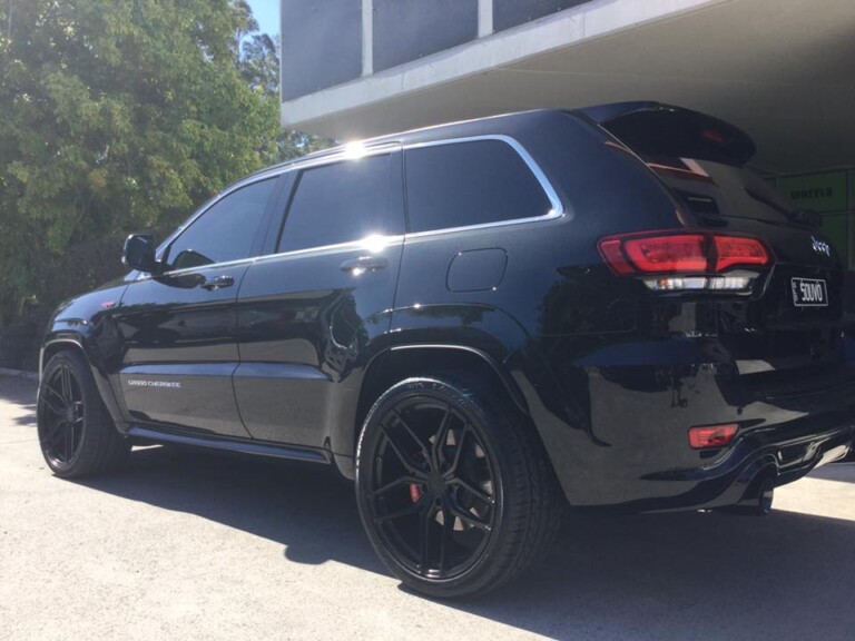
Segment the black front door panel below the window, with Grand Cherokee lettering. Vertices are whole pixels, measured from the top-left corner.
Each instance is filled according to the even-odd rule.
[[[237,292],[248,267],[205,267],[128,286],[115,319],[122,337],[120,394],[130,420],[248,436],[232,387],[239,361]],[[232,285],[205,287],[226,278]]]

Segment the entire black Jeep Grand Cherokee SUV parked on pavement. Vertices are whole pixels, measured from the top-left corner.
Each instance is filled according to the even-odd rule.
[[[334,465],[432,595],[518,574],[566,504],[768,506],[846,454],[839,257],[659,103],[347,145],[233,185],[60,306],[39,437],[59,476],[137,442]]]

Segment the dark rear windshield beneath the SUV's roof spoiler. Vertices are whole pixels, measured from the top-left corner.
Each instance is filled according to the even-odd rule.
[[[797,207],[755,171],[691,158],[643,158],[695,214],[792,223]]]

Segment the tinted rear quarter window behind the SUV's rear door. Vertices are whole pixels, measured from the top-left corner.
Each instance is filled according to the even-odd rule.
[[[410,231],[544,216],[552,208],[520,155],[501,140],[406,151]]]

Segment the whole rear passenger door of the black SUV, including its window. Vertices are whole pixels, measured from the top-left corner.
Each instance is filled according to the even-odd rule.
[[[238,299],[234,383],[259,440],[321,447],[389,332],[404,231],[401,152],[294,171]],[[352,455],[352,452],[345,453]]]

